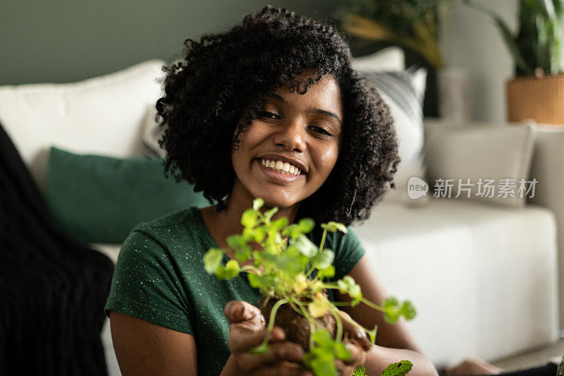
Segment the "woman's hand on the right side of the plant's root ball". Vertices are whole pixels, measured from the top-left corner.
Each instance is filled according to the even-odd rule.
[[[372,347],[372,342],[369,341],[366,332],[360,329],[348,313],[339,310],[341,315],[341,322],[343,322],[343,343],[350,351],[350,359],[347,361],[337,359],[335,366],[340,375],[350,376],[353,375],[355,369],[359,365],[364,365],[366,361],[366,353]]]

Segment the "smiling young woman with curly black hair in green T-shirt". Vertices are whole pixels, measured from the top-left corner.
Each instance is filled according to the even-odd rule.
[[[241,275],[218,281],[207,274],[202,255],[214,246],[229,250],[225,238],[242,231],[241,214],[258,197],[290,223],[367,219],[393,186],[392,119],[350,67],[341,35],[283,9],[266,7],[185,47],[157,102],[165,172],[216,205],[140,224],[123,244],[106,305],[120,368],[123,375],[307,375],[302,348],[280,328],[268,354],[249,352],[266,334],[260,293]],[[319,232],[310,236],[319,243]],[[370,301],[386,298],[353,231],[326,244],[336,253],[334,279],[348,274]],[[341,375],[360,364],[380,375],[404,359],[414,364],[410,375],[436,375],[405,322],[388,325],[362,303],[343,315],[379,329],[370,346],[346,328],[357,342],[349,344],[353,358],[336,364]]]

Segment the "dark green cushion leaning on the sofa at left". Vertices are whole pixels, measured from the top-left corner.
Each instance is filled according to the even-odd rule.
[[[122,243],[139,222],[209,206],[188,183],[164,177],[162,159],[78,155],[51,147],[45,200],[56,224],[78,241]]]

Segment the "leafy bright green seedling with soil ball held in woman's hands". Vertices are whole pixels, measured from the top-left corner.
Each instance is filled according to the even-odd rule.
[[[222,265],[224,251],[210,248],[203,257],[204,267],[219,279],[233,279],[240,272],[247,272],[250,285],[263,294],[261,310],[268,333],[276,324],[286,332],[289,341],[301,344],[306,351],[304,363],[315,375],[337,375],[334,360],[350,358],[344,345],[349,340],[343,334],[342,320],[345,317],[338,314],[336,303],[329,300],[328,289],[336,289],[353,298],[352,302],[339,305],[365,303],[381,310],[386,322],[397,322],[401,316],[406,320],[415,317],[415,308],[410,301],[400,303],[391,297],[379,306],[365,299],[360,286],[349,276],[338,281],[325,280],[335,274],[334,253],[324,248],[326,234],[328,231],[346,233],[343,224],[321,224],[324,232],[321,244],[317,246],[305,236],[314,229],[312,219],[300,219],[297,224],[288,225],[285,217],[272,220],[278,210],[276,207],[263,213],[260,210],[263,204],[264,201],[257,198],[252,209],[246,210],[241,218],[243,234],[226,239],[229,247],[235,250],[236,260]],[[262,251],[252,250],[249,243],[259,244]],[[253,265],[240,266],[239,262],[247,260],[253,260]],[[376,327],[361,328],[374,344]],[[267,352],[268,341],[269,334],[253,351]],[[402,376],[411,367],[408,360],[403,360],[386,368],[384,375]],[[364,375],[364,368],[357,368],[355,375]]]

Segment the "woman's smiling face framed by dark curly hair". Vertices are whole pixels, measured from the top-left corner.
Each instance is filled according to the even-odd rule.
[[[341,90],[330,75],[304,95],[289,92],[286,85],[268,97],[232,154],[232,198],[235,194],[246,195],[236,198],[245,201],[260,197],[266,205],[283,209],[299,205],[317,191],[337,162],[341,102]],[[288,173],[281,172],[286,169]]]

